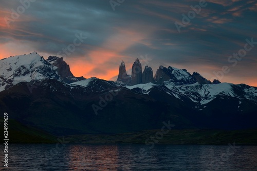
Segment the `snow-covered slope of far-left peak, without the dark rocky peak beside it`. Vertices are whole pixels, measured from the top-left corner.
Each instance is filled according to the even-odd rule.
[[[54,78],[59,80],[57,67],[52,66],[38,53],[18,55],[0,60],[0,91],[19,82]]]

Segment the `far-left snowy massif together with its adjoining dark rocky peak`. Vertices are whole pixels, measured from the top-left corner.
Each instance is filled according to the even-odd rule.
[[[38,53],[32,52],[0,60],[0,91],[20,82],[44,79],[56,79],[70,83],[85,78],[74,77],[63,58],[56,56],[49,56],[45,60]]]

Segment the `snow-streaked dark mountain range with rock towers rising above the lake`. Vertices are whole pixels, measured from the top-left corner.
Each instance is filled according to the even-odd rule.
[[[117,66],[118,70],[118,66]],[[174,129],[256,128],[257,88],[209,81],[160,66],[155,75],[136,59],[117,81],[75,77],[63,58],[38,53],[0,60],[0,109],[10,119],[53,135],[118,134]]]

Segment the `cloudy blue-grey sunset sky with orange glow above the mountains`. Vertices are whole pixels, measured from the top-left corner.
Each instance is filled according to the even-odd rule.
[[[0,59],[34,51],[86,78],[116,80],[138,58],[257,87],[257,1],[1,1]]]

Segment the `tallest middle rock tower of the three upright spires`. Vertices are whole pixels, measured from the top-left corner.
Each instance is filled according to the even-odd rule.
[[[140,83],[142,83],[142,65],[139,59],[136,59],[132,66],[131,84],[133,86]]]

